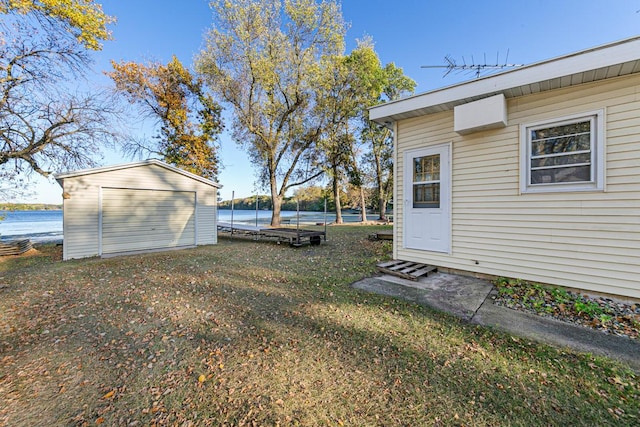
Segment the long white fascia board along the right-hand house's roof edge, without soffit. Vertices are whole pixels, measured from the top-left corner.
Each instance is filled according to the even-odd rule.
[[[396,114],[404,114],[465,98],[494,95],[518,86],[634,61],[639,59],[639,52],[640,37],[633,37],[492,76],[482,77],[477,80],[447,86],[398,101],[380,104],[370,108],[369,118],[378,122],[390,121],[392,116]]]

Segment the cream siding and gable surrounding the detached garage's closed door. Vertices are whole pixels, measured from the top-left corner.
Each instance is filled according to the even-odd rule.
[[[216,189],[158,165],[64,179],[64,259],[99,255],[100,188],[130,188],[197,192],[196,244],[217,243]]]

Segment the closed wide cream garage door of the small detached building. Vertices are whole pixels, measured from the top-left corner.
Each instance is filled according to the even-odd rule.
[[[102,253],[195,245],[191,191],[102,189]]]

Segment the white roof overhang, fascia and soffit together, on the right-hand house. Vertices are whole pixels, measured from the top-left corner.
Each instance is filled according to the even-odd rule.
[[[380,104],[369,109],[369,118],[390,124],[499,93],[514,98],[638,72],[640,36]]]

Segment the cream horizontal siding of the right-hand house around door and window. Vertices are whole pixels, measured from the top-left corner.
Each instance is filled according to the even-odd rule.
[[[397,258],[640,298],[640,76],[510,99],[508,126],[460,136],[453,112],[398,123],[404,152],[452,143],[452,252],[402,248]],[[519,125],[605,110],[605,192],[520,194]]]

